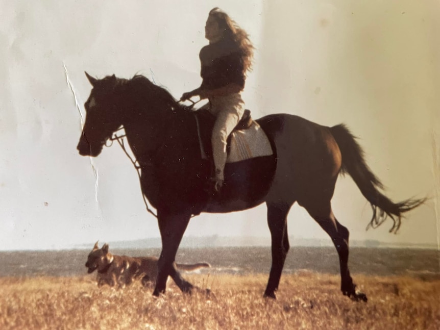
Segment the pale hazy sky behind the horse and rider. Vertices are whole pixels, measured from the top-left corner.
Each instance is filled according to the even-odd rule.
[[[407,214],[398,235],[388,234],[390,220],[365,232],[370,206],[351,177],[340,177],[332,205],[351,239],[437,243],[437,1],[0,0],[0,249],[159,237],[120,147],[79,156],[76,100],[84,115],[84,70],[98,78],[141,73],[176,98],[198,87],[204,24],[216,6],[257,48],[244,95],[255,118],[286,112],[345,122],[389,197],[433,197]],[[326,238],[297,205],[288,222],[291,236]],[[202,214],[185,235],[270,239],[265,206]]]

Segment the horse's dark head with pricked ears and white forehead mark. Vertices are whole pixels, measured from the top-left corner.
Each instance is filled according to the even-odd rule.
[[[93,88],[84,104],[86,120],[77,149],[82,156],[96,157],[121,125],[119,95],[115,92],[119,79],[113,74],[99,80],[85,73]]]

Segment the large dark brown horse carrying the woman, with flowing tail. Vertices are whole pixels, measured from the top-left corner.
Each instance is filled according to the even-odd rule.
[[[86,121],[78,144],[83,156],[98,156],[106,141],[123,126],[140,166],[142,192],[157,210],[162,252],[154,295],[165,292],[173,278],[183,292],[194,287],[174,266],[182,236],[192,215],[226,213],[267,205],[272,236],[272,267],[264,295],[275,298],[289,249],[287,214],[298,202],[331,237],[338,255],[341,291],[354,300],[356,292],[348,269],[349,231],[331,208],[336,179],[348,173],[373,208],[370,225],[386,217],[397,231],[402,213],[424,199],[395,203],[378,188],[380,181],[365,164],[363,151],[344,125],[331,128],[298,116],[273,114],[257,120],[267,134],[274,155],[227,164],[225,186],[210,195],[206,182],[211,163],[201,158],[197,122],[164,88],[142,75],[130,80],[114,75],[98,80],[87,75],[93,89],[84,107]],[[203,124],[203,123],[202,123]]]

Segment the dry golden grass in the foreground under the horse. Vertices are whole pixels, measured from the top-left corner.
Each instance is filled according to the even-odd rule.
[[[186,277],[206,296],[168,282],[159,298],[135,283],[98,288],[94,276],[0,278],[1,329],[439,329],[440,281],[355,276],[369,296],[353,302],[339,277],[283,275],[278,299],[264,299],[267,275]]]

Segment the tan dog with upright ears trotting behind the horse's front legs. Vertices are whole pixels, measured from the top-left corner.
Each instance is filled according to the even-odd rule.
[[[156,257],[127,257],[116,256],[109,252],[108,244],[102,248],[95,243],[87,257],[87,272],[97,270],[96,282],[98,286],[107,284],[111,287],[118,285],[122,288],[130,285],[133,280],[141,278],[143,286],[156,283],[157,277]],[[176,264],[177,269],[191,271],[203,267],[210,267],[208,263]]]

